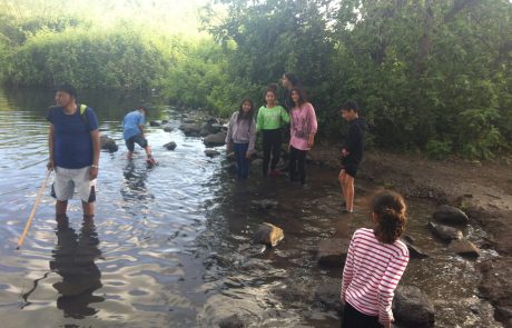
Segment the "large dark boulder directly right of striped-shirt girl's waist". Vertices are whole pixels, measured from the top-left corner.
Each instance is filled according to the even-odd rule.
[[[397,325],[403,327],[434,327],[434,306],[417,287],[398,286],[393,299],[393,315]]]

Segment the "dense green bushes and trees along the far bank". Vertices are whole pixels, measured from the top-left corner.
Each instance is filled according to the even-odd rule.
[[[336,108],[353,99],[376,147],[439,158],[510,150],[508,0],[220,0],[204,9],[213,38],[171,31],[166,1],[77,3],[104,6],[101,14],[110,8],[109,23],[80,11],[51,18],[0,9],[4,82],[156,88],[173,102],[228,115],[247,96],[262,105],[263,89],[294,71],[323,138],[339,140],[346,125]],[[146,16],[114,19],[121,8]],[[180,26],[195,29],[190,21]]]

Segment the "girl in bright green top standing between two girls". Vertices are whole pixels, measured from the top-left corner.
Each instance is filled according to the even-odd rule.
[[[263,131],[263,176],[268,175],[268,163],[270,162],[270,176],[277,177],[276,170],[280,156],[282,128],[289,122],[289,116],[286,110],[276,105],[277,87],[269,86],[265,92],[265,106],[258,111],[256,130]]]

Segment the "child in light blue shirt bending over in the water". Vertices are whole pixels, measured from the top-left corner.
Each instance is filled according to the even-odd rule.
[[[146,161],[148,165],[155,165],[155,159],[151,156],[151,148],[148,145],[148,140],[144,138],[144,123],[146,122],[146,115],[148,108],[146,106],[138,106],[136,110],[130,111],[125,116],[122,120],[125,143],[128,148],[128,159],[132,159],[135,143],[139,145],[146,151]]]

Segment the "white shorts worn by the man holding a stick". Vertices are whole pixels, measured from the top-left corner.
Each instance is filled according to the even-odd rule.
[[[90,167],[81,169],[65,169],[56,167],[51,196],[57,200],[71,199],[75,189],[83,202],[96,200],[96,179],[89,180]]]

